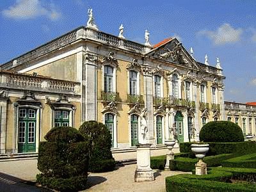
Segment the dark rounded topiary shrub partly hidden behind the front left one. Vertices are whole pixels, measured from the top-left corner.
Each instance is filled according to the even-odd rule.
[[[84,122],[79,132],[90,145],[90,172],[108,172],[115,169],[115,159],[111,152],[111,134],[108,128],[95,121]]]

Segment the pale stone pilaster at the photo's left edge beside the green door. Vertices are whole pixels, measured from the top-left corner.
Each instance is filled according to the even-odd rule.
[[[0,106],[0,154],[6,154],[6,113],[7,100],[3,100]]]

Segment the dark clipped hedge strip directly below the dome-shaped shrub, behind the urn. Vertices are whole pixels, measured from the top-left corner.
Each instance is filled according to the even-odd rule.
[[[256,152],[256,141],[244,141],[239,143],[209,143],[209,151],[206,156],[214,156],[218,154],[250,154]],[[180,152],[188,153],[189,157],[195,157],[191,151],[193,142],[180,143]]]

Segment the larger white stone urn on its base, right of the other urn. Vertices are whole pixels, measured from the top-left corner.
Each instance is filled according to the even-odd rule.
[[[207,164],[203,162],[203,158],[209,150],[209,144],[192,144],[191,150],[199,159],[198,163],[195,164],[196,175],[207,175]]]

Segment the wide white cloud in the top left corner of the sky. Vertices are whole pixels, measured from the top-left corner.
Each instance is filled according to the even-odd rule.
[[[52,6],[46,8],[39,0],[16,0],[13,6],[3,10],[4,17],[11,19],[34,19],[38,16],[46,16],[51,20],[58,20],[61,13],[57,12]]]

